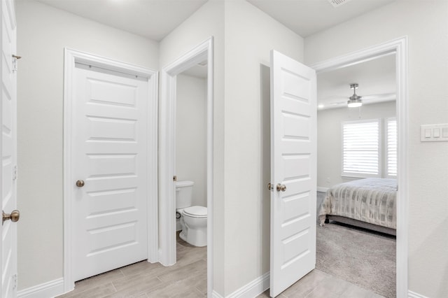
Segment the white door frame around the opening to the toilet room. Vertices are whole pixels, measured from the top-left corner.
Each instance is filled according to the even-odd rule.
[[[214,140],[214,52],[213,36],[162,68],[160,86],[159,196],[160,255],[164,266],[176,263],[176,195],[173,177],[176,159],[176,77],[207,59],[207,292],[213,289],[213,140]]]

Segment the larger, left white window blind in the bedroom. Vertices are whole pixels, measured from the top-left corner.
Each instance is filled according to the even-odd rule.
[[[381,177],[379,119],[342,122],[342,176]]]

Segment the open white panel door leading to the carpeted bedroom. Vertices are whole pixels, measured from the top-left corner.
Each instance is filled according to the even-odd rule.
[[[316,72],[271,52],[271,269],[275,297],[316,264]]]

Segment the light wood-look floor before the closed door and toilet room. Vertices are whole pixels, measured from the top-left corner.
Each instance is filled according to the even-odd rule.
[[[75,290],[58,297],[207,297],[207,247],[177,239],[173,266],[138,262],[78,281]]]

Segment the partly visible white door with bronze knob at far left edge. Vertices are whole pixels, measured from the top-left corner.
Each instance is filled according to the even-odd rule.
[[[2,166],[1,208],[3,223],[1,225],[1,297],[17,295],[17,225],[19,219],[16,199],[17,179],[17,132],[16,132],[16,65],[15,56],[15,14],[13,1],[1,1],[1,143]]]

